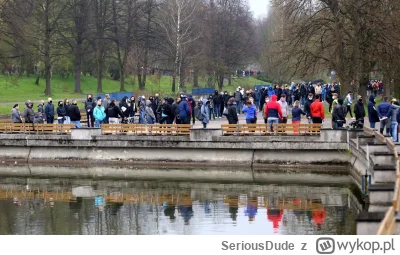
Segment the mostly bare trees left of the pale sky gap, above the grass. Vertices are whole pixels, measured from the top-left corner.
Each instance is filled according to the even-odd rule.
[[[20,76],[37,74],[51,94],[53,74],[120,81],[146,88],[148,70],[169,70],[172,91],[189,73],[222,89],[255,53],[256,22],[246,0],[3,0],[0,61]],[[164,72],[165,73],[165,72]]]

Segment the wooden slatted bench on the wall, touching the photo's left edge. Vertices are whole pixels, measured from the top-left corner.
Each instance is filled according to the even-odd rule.
[[[9,134],[69,134],[74,124],[0,123],[0,133]]]

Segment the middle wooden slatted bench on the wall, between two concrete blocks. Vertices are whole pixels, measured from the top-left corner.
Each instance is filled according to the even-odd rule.
[[[103,124],[101,131],[103,135],[190,135],[192,125],[184,124]]]

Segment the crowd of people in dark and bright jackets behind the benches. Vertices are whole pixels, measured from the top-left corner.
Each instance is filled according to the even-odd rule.
[[[238,115],[244,114],[247,124],[258,122],[258,112],[262,112],[265,124],[269,124],[271,131],[273,124],[301,123],[302,116],[308,123],[323,123],[325,120],[326,102],[329,112],[332,114],[332,128],[342,128],[346,124],[346,118],[350,117],[354,122],[353,127],[362,128],[364,119],[368,113],[371,128],[380,123],[380,132],[386,131],[393,141],[398,140],[398,123],[400,121],[399,103],[396,99],[389,102],[387,97],[376,106],[376,96],[379,93],[381,82],[372,81],[369,87],[368,106],[364,106],[361,96],[354,99],[352,92],[341,96],[339,84],[291,84],[265,86],[260,89],[245,91],[238,87],[236,91],[215,93],[201,97],[195,101],[192,96],[181,94],[177,98],[155,96],[124,97],[117,102],[110,95],[104,98],[94,99],[88,95],[84,103],[84,112],[88,127],[99,128],[102,124],[135,123],[137,116],[139,124],[195,124],[200,121],[203,128],[207,128],[210,121],[226,118],[229,124],[238,124]],[[354,115],[353,115],[354,112]],[[81,111],[77,100],[65,99],[59,101],[57,107],[51,98],[45,104],[41,101],[34,110],[33,103],[26,101],[22,114],[19,105],[14,105],[11,114],[14,123],[72,123],[76,128],[81,127]]]

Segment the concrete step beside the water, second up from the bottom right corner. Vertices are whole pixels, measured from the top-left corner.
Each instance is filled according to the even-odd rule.
[[[395,184],[372,184],[369,187],[369,201],[371,205],[393,204]]]

